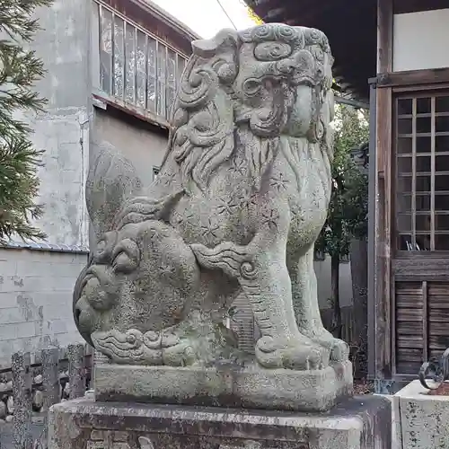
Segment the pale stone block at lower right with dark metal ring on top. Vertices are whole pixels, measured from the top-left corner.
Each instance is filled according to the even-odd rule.
[[[393,396],[393,402],[401,417],[403,449],[449,447],[449,396],[429,395],[413,381]]]

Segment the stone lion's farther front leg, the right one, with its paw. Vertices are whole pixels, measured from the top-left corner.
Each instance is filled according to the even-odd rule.
[[[318,304],[318,290],[313,269],[313,247],[300,258],[287,257],[288,270],[292,279],[292,297],[295,318],[302,334],[330,349],[330,360],[348,360],[348,344],[336,339],[324,328]]]

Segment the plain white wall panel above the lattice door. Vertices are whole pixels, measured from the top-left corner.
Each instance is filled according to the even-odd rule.
[[[449,8],[394,14],[393,71],[449,67]]]

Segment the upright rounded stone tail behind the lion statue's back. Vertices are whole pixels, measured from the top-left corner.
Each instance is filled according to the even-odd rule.
[[[99,145],[86,181],[87,210],[97,238],[111,230],[124,201],[141,188],[133,164],[112,145]]]

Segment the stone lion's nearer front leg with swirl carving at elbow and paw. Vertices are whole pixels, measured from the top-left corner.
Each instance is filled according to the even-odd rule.
[[[248,296],[261,337],[256,357],[266,368],[320,369],[329,363],[329,350],[302,335],[296,325],[285,245],[269,248],[254,239],[248,246],[224,242],[216,248],[191,245],[207,269],[223,269],[236,277]]]

